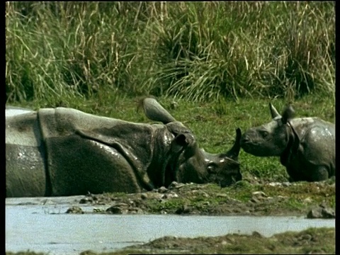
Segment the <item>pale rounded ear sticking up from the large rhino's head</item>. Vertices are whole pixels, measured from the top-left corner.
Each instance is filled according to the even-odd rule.
[[[160,121],[164,124],[176,121],[154,98],[144,98],[140,102],[140,105],[150,120]]]

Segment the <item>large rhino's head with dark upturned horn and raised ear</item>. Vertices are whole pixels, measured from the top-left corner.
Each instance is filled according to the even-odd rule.
[[[161,121],[176,135],[171,145],[171,154],[178,154],[179,157],[172,157],[176,166],[167,171],[165,186],[171,181],[178,181],[218,183],[224,187],[242,179],[238,162],[242,135],[239,128],[232,149],[222,154],[210,154],[198,146],[191,130],[176,121],[154,98],[145,98],[142,106],[149,119]]]

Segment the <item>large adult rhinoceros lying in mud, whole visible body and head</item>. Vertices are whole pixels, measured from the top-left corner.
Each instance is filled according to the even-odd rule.
[[[6,109],[6,196],[137,193],[172,181],[227,186],[242,179],[239,129],[232,149],[210,154],[154,98],[142,107],[162,124],[72,108]]]

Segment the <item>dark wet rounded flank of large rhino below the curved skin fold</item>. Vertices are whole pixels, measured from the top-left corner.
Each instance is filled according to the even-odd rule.
[[[103,192],[137,193],[143,187],[130,162],[114,147],[79,135],[50,137],[52,196]]]

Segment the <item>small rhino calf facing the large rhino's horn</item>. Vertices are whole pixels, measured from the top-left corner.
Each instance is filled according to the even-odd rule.
[[[290,181],[323,181],[335,176],[335,125],[317,117],[282,116],[269,104],[273,120],[242,135],[241,147],[258,157],[280,156]]]

